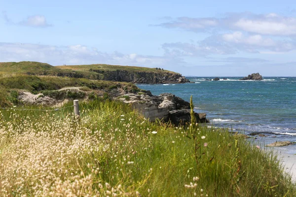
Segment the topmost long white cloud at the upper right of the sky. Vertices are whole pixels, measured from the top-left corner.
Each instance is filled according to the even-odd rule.
[[[159,26],[164,28],[179,28],[193,32],[212,31],[217,29],[245,31],[267,35],[296,35],[296,18],[280,16],[276,13],[254,14],[251,12],[228,13],[224,18],[189,18],[170,19]]]

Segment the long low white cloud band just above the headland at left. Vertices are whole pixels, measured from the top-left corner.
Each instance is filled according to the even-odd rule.
[[[37,61],[51,65],[115,64],[130,66],[171,66],[183,64],[180,58],[140,54],[105,53],[83,45],[52,46],[0,42],[0,62]],[[168,68],[168,67],[167,67]]]

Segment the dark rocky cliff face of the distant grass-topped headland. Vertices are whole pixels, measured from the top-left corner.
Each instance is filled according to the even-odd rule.
[[[105,71],[98,69],[91,69],[90,71],[99,73],[96,79],[107,81],[120,81],[132,83],[145,84],[159,84],[159,83],[190,83],[190,81],[179,73],[173,72],[130,72],[127,70]]]

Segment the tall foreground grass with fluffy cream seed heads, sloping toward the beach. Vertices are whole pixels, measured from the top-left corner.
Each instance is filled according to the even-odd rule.
[[[118,102],[80,108],[79,120],[1,111],[0,196],[296,195],[274,156],[225,129],[150,123]]]

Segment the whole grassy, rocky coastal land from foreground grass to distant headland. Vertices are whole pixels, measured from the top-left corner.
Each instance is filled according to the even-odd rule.
[[[0,196],[295,196],[263,147],[199,124],[192,99],[130,83],[185,83],[180,74],[61,67],[0,63]]]

